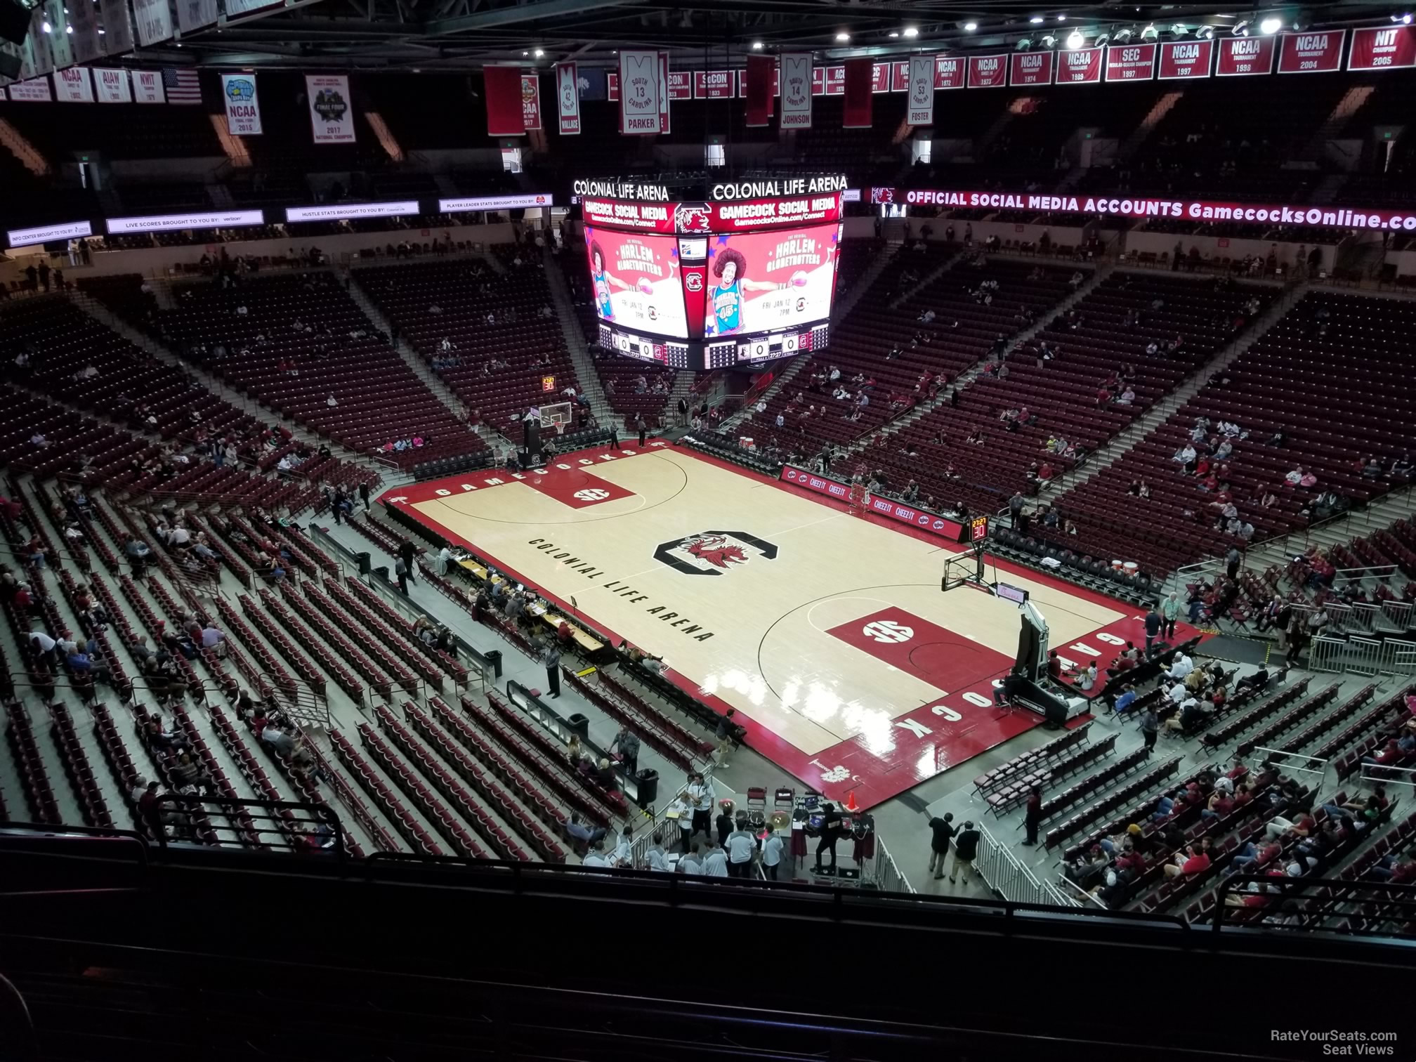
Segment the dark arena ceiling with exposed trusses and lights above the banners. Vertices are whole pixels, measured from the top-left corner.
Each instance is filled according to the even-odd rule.
[[[287,0],[222,20],[181,41],[143,48],[139,61],[202,67],[331,67],[459,71],[489,62],[548,68],[562,59],[615,62],[620,47],[661,48],[678,69],[722,67],[749,54],[816,51],[818,61],[905,58],[976,48],[1063,47],[1174,40],[1194,34],[1371,25],[1408,8],[1369,3],[1029,4],[1020,0]],[[1270,24],[1272,25],[1272,24]],[[1120,38],[1117,34],[1123,34]],[[1024,44],[1025,42],[1025,44]]]

